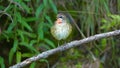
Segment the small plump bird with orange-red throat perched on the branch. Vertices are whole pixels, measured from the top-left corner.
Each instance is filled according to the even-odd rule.
[[[72,26],[64,14],[58,14],[55,24],[51,27],[51,34],[58,41],[65,40],[72,32]]]

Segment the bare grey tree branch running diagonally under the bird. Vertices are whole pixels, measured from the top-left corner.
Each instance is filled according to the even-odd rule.
[[[92,42],[95,40],[99,40],[99,39],[107,38],[107,37],[111,37],[111,36],[116,36],[116,35],[120,35],[120,30],[115,30],[112,32],[107,32],[107,33],[102,33],[102,34],[96,34],[94,36],[90,36],[90,37],[82,39],[82,40],[71,41],[70,43],[61,45],[60,47],[57,47],[55,49],[51,49],[51,50],[42,52],[42,53],[38,54],[37,56],[33,56],[31,58],[28,58],[21,63],[18,63],[18,64],[11,66],[10,68],[21,68],[21,67],[24,67],[24,66],[26,66],[34,61],[39,60],[39,59],[47,58],[48,56],[55,54],[57,52],[65,51],[65,50],[70,49],[72,47],[80,46],[80,45],[88,43],[88,42]]]

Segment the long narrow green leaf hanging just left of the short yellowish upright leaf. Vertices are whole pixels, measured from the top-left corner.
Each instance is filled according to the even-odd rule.
[[[11,48],[10,52],[9,52],[9,64],[11,64],[12,60],[13,60],[13,55],[17,50],[17,46],[18,46],[18,40],[15,39],[14,43],[13,43],[13,48]]]

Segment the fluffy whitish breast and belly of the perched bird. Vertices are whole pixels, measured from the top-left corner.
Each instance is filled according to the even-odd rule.
[[[71,25],[69,23],[61,23],[61,24],[55,24],[54,31],[52,31],[52,35],[57,39],[57,40],[62,40],[62,39],[66,39],[71,31]]]

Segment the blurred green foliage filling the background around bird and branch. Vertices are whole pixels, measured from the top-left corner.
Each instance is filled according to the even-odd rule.
[[[51,36],[50,27],[58,12],[70,14],[85,37],[119,29],[119,3],[119,0],[0,0],[1,68],[56,48],[58,43]],[[73,32],[72,40],[84,38],[76,27]],[[101,68],[119,68],[119,38],[101,39],[68,50],[58,68],[66,65],[80,68],[86,61],[92,63],[94,58],[100,60]],[[57,57],[33,62],[30,68],[52,66],[57,63]]]

